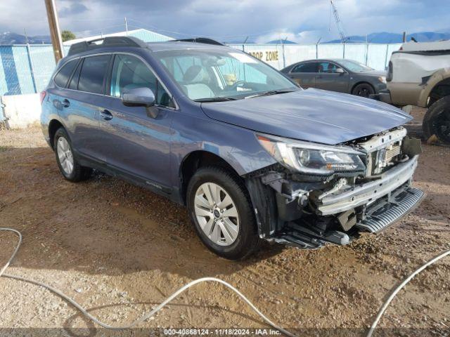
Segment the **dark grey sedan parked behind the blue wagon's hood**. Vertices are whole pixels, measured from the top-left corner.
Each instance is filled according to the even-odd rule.
[[[307,60],[281,70],[302,88],[319,88],[362,97],[386,88],[385,72],[354,60]]]

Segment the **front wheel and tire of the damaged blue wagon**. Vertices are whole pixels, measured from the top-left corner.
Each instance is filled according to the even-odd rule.
[[[213,166],[199,169],[189,181],[187,204],[195,231],[210,251],[238,260],[258,248],[250,197],[233,173]]]

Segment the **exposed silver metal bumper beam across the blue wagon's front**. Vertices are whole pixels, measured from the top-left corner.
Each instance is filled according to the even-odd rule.
[[[418,156],[416,155],[412,159],[392,167],[380,179],[323,197],[316,203],[317,213],[321,216],[342,213],[380,199],[411,180],[416,171],[417,162]]]

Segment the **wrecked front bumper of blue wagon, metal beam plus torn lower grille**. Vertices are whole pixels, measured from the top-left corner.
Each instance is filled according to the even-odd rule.
[[[283,228],[267,238],[301,249],[318,249],[326,244],[349,244],[359,232],[380,232],[422,201],[424,192],[411,187],[417,164],[415,155],[368,183],[343,187],[322,198],[313,194],[309,205],[316,220],[311,213],[285,220]]]

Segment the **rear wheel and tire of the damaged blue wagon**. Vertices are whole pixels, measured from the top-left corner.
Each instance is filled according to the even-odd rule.
[[[58,128],[56,131],[53,138],[53,147],[59,171],[65,179],[77,183],[91,176],[92,169],[81,166],[75,158],[72,143],[64,128]]]

